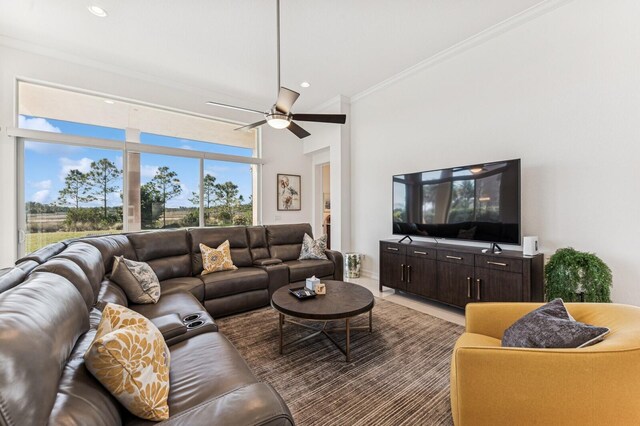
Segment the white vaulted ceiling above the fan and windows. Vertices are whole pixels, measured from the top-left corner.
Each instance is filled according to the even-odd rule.
[[[297,107],[308,110],[357,94],[537,3],[282,0],[282,84],[301,92]],[[90,14],[92,4],[108,17]],[[275,4],[0,0],[0,36],[265,109],[276,93]],[[301,88],[302,81],[311,87]]]

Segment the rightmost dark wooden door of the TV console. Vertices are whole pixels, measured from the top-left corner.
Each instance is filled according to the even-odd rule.
[[[522,274],[476,268],[474,302],[523,302]]]

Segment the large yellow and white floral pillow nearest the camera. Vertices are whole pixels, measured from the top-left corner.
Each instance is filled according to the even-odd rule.
[[[169,348],[147,318],[108,303],[84,360],[132,414],[154,421],[169,418]]]

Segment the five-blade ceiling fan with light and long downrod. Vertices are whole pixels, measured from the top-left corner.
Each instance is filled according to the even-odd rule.
[[[268,124],[275,129],[289,129],[289,131],[291,131],[294,135],[302,139],[306,138],[311,133],[307,132],[298,124],[294,123],[294,120],[344,124],[347,121],[347,116],[345,114],[296,114],[291,112],[291,107],[300,96],[300,93],[280,86],[280,0],[276,0],[276,19],[278,43],[278,98],[276,100],[276,103],[273,104],[273,106],[268,111],[264,112],[212,101],[207,102],[207,105],[220,106],[224,108],[264,115],[264,120],[257,121],[247,126],[239,127],[235,130],[250,130],[262,126],[263,124]]]

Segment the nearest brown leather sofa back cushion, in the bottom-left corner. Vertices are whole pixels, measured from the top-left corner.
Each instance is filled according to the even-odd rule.
[[[43,425],[76,341],[89,330],[78,289],[36,272],[0,294],[0,424]]]

